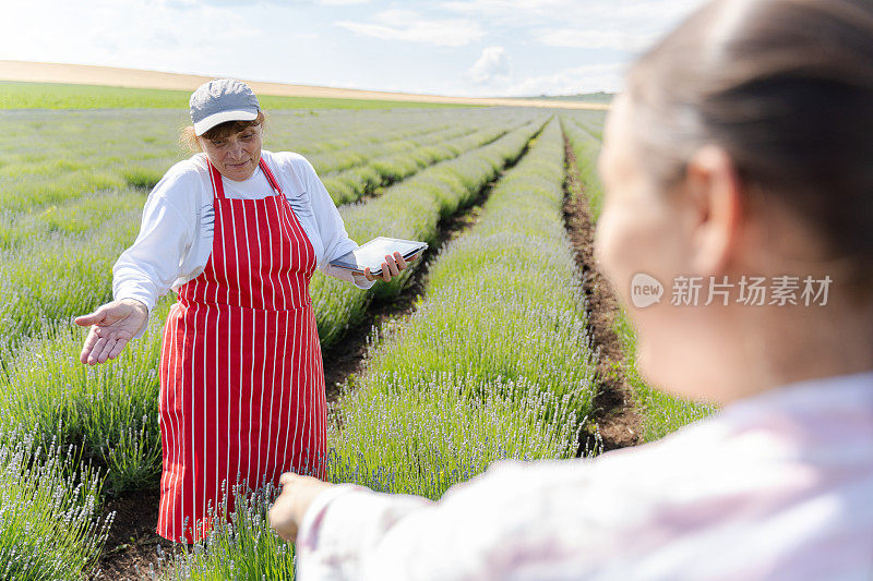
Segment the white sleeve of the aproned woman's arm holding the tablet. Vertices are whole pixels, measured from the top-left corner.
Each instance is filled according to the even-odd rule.
[[[375,285],[375,280],[367,280],[362,276],[352,276],[350,270],[331,266],[331,261],[348,254],[358,247],[357,242],[348,238],[346,225],[343,217],[336,209],[336,204],[331,199],[331,195],[319,179],[315,168],[306,158],[299,158],[302,162],[303,184],[312,204],[312,213],[319,228],[324,255],[319,268],[325,275],[351,282],[359,289],[369,289]]]

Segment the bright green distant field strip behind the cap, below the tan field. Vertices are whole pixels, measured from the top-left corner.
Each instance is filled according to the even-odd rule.
[[[0,81],[0,109],[187,109],[189,90],[21,83]],[[258,97],[264,109],[395,109],[470,107],[444,102],[345,99],[334,97]]]

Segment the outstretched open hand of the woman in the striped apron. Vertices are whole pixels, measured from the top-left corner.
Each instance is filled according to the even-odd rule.
[[[148,310],[134,299],[112,301],[89,315],[76,317],[76,325],[92,326],[79,360],[96,365],[117,358],[147,319]]]

